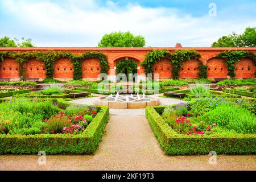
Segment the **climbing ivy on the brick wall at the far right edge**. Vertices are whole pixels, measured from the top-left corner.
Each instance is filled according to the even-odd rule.
[[[254,64],[256,65],[256,55],[254,55],[253,52],[248,51],[224,51],[220,52],[217,57],[225,59],[225,65],[228,67],[228,76],[235,77],[235,63],[240,61],[241,59],[248,57],[254,61]],[[256,72],[255,72],[256,73]],[[254,73],[254,75],[255,75]]]

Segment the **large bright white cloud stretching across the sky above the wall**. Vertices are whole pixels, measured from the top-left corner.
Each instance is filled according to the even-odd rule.
[[[101,36],[112,31],[131,31],[143,35],[146,46],[208,47],[219,36],[242,32],[255,26],[255,19],[221,16],[193,17],[167,7],[148,8],[129,3],[118,7],[108,1],[3,1],[7,14],[22,24],[22,30],[33,32],[33,42],[40,47],[95,47]],[[205,7],[206,9],[208,7]],[[17,33],[18,34],[18,33]],[[20,37],[23,35],[20,35]]]

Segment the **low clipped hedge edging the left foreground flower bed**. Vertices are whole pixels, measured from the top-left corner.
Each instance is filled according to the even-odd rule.
[[[93,154],[108,120],[109,107],[102,106],[79,135],[0,135],[0,154],[38,154],[39,151],[46,154]]]

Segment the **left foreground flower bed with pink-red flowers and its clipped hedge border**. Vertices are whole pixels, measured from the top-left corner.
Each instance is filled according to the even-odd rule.
[[[3,111],[7,107],[11,109]],[[108,107],[73,105],[63,99],[13,100],[0,109],[5,113],[0,154],[92,154],[109,119]]]

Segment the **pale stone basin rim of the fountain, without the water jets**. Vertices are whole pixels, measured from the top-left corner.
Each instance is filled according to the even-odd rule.
[[[108,96],[98,97],[94,104],[99,106],[109,106],[110,109],[141,109],[147,106],[159,106],[160,101],[156,98],[150,98],[148,101],[133,101],[133,102],[126,102],[126,101],[108,101],[104,100]]]

